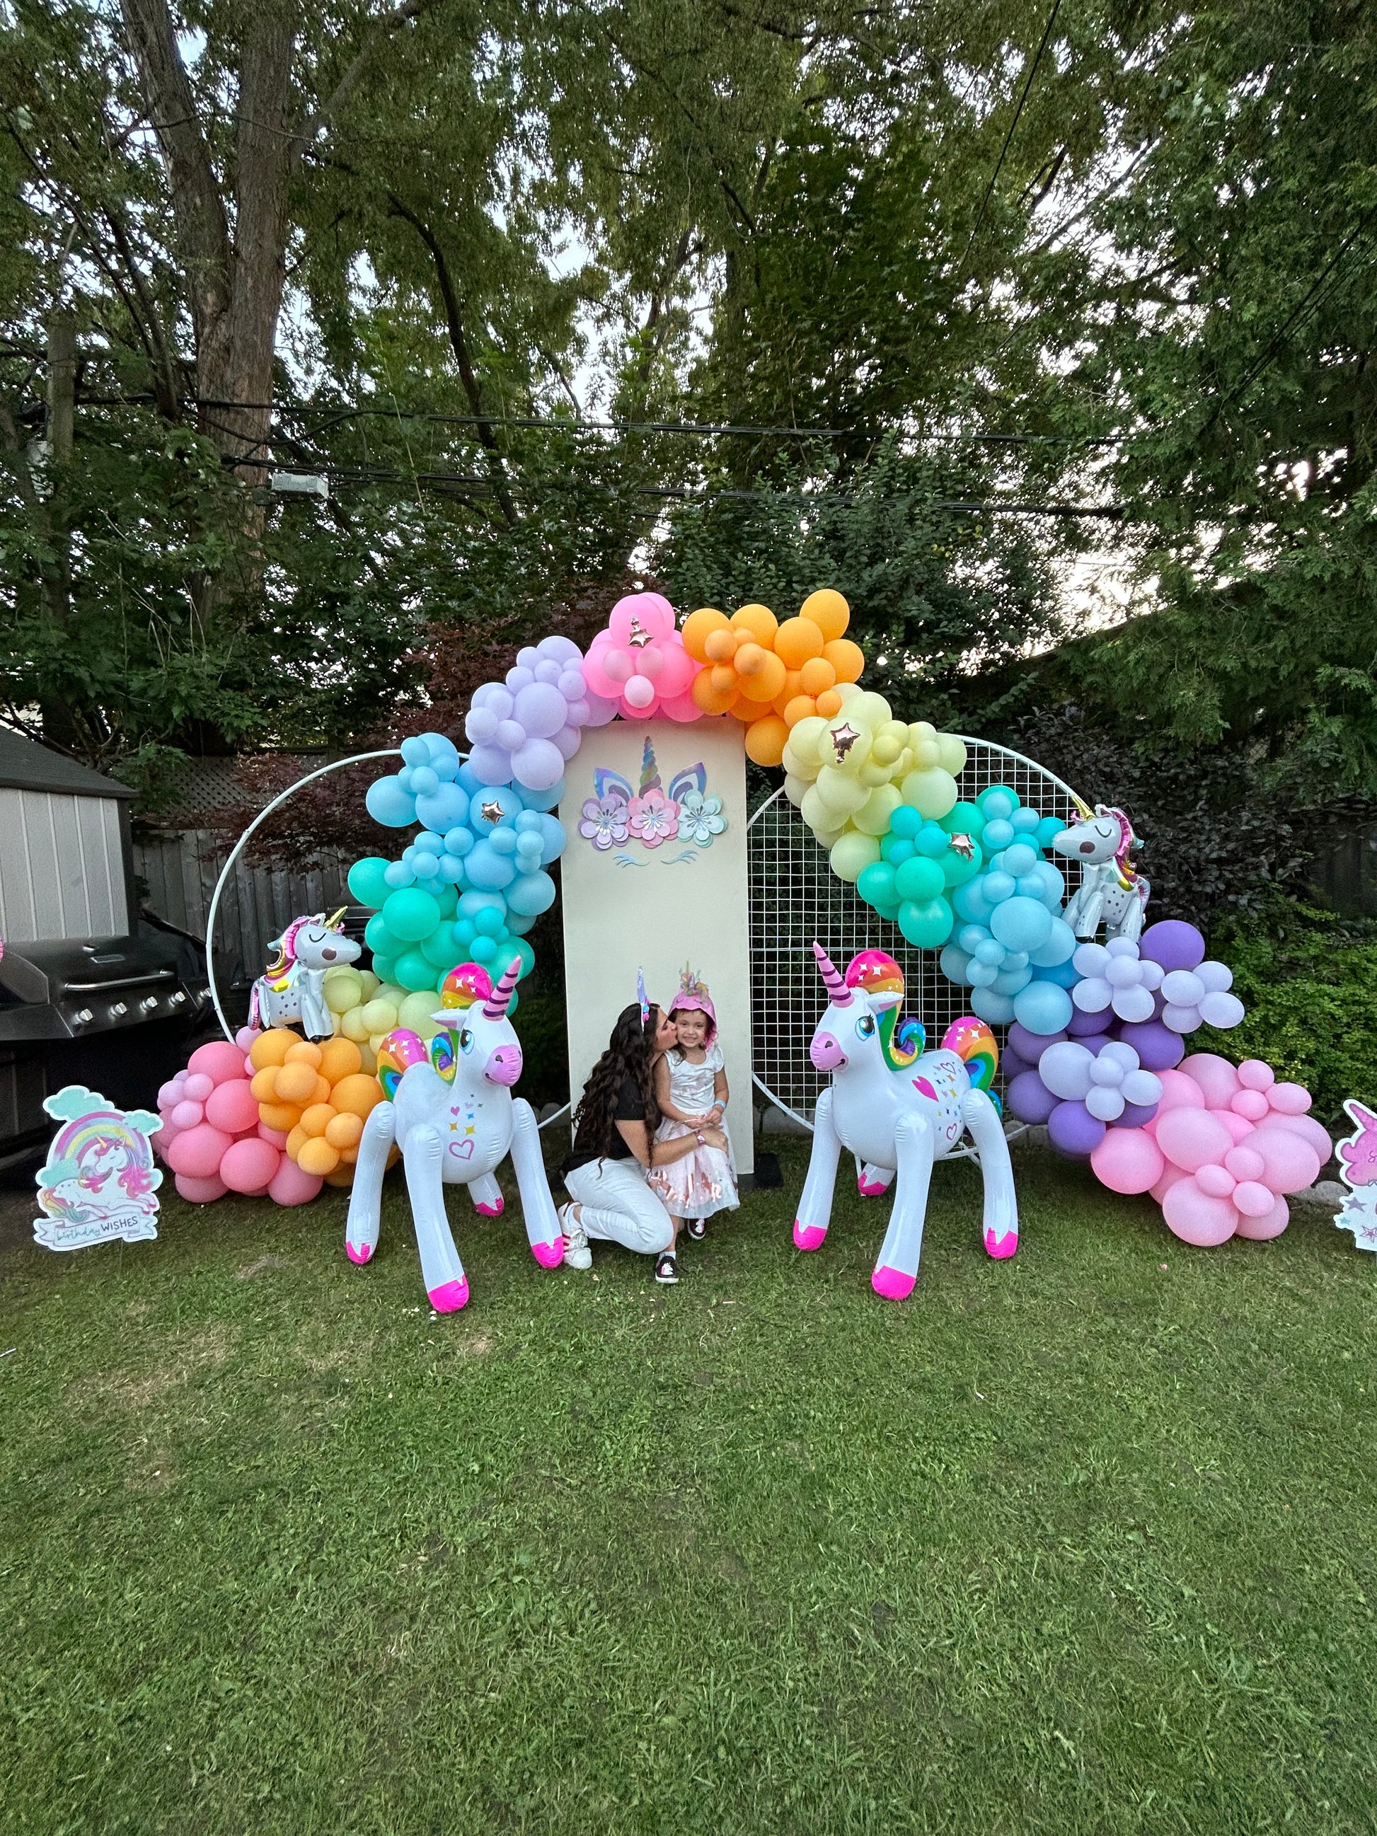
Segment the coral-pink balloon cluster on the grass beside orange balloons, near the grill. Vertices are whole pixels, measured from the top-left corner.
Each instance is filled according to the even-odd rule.
[[[196,1047],[187,1069],[158,1091],[163,1125],[154,1151],[176,1175],[176,1190],[193,1204],[209,1204],[226,1192],[277,1204],[305,1204],[321,1181],[286,1157],[286,1136],[259,1120],[246,1059],[257,1039],[244,1026],[231,1045],[217,1039]]]

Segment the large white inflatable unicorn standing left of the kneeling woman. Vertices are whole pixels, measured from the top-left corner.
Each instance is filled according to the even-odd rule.
[[[444,1186],[468,1186],[476,1210],[496,1217],[503,1197],[494,1170],[509,1153],[531,1254],[542,1269],[556,1269],[564,1259],[536,1118],[531,1103],[512,1096],[521,1047],[507,1002],[520,971],[518,957],[494,988],[481,964],[461,962],[444,977],[441,1012],[433,1015],[444,1030],[426,1045],[419,1034],[398,1028],[378,1047],[378,1083],[387,1102],[376,1103],[364,1124],[345,1252],[351,1261],[365,1263],[378,1247],[382,1175],[395,1142],[406,1166],[420,1274],[437,1313],[455,1313],[468,1300]]]

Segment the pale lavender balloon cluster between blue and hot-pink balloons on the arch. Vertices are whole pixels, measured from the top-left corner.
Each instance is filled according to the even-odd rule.
[[[613,696],[589,692],[578,644],[542,637],[516,652],[503,681],[474,690],[465,716],[468,764],[483,784],[553,789],[578,751],[582,729],[604,727],[615,712]]]

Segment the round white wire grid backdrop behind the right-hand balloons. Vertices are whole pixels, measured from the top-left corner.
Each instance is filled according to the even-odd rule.
[[[1072,789],[1030,758],[984,740],[966,740],[966,769],[957,786],[973,800],[991,784],[1008,784],[1019,800],[1043,815],[1070,821]],[[1080,865],[1056,865],[1067,876],[1067,896],[1080,885]],[[859,949],[883,949],[901,966],[905,1012],[938,1045],[947,1026],[969,1013],[969,988],[957,988],[938,968],[938,951],[914,949],[896,924],[867,905],[856,887],[837,879],[826,852],[784,797],[775,791],[751,817],[747,872],[751,883],[751,1023],[756,1087],[780,1109],[812,1120],[826,1080],[808,1059],[823,984],[813,960],[813,938],[837,968]],[[1002,1039],[1004,1028],[997,1028]]]

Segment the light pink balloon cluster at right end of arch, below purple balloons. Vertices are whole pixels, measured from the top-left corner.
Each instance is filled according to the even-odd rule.
[[[1182,1243],[1278,1237],[1291,1221],[1285,1193],[1313,1186],[1331,1153],[1309,1091],[1258,1058],[1234,1067],[1214,1052],[1159,1076],[1157,1114],[1105,1135],[1091,1155],[1096,1177],[1111,1192],[1151,1192]]]

